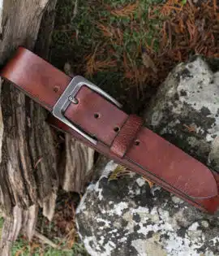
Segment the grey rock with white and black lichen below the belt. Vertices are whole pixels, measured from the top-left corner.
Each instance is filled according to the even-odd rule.
[[[113,171],[110,162],[105,169]],[[218,256],[219,212],[207,215],[140,176],[91,184],[77,226],[92,256]]]

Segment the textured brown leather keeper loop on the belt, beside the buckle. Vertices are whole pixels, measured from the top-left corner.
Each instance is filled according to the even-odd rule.
[[[144,121],[139,116],[129,115],[126,123],[123,124],[117,137],[115,137],[110,150],[119,158],[123,158],[143,124]]]

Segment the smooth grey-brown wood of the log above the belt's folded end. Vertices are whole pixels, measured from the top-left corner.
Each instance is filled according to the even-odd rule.
[[[0,63],[10,58],[18,46],[33,48],[41,25],[41,17],[49,2],[55,0],[4,0]]]

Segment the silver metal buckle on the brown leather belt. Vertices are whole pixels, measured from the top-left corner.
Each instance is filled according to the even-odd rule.
[[[91,135],[88,135],[88,133],[81,130],[81,128],[75,126],[75,124],[72,124],[65,116],[64,112],[67,110],[67,107],[71,104],[71,102],[77,104],[77,98],[75,97],[76,94],[79,92],[79,89],[86,85],[88,88],[92,89],[93,91],[99,93],[101,96],[109,100],[110,102],[114,103],[115,106],[118,106],[121,108],[121,104],[117,102],[114,98],[112,98],[108,93],[105,93],[103,90],[101,90],[97,85],[93,85],[90,81],[86,80],[83,76],[75,76],[69,85],[67,85],[67,89],[62,93],[62,96],[58,99],[58,102],[56,102],[54,109],[53,109],[53,115],[62,121],[62,123],[67,124],[70,128],[78,132],[80,135],[82,135],[84,138],[86,138],[88,141],[92,142],[94,145],[97,144],[97,140],[93,138]]]

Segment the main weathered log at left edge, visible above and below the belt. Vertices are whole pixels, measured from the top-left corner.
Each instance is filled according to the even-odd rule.
[[[17,46],[33,48],[47,4],[48,0],[4,1],[1,64]],[[45,198],[55,202],[51,195],[58,189],[58,175],[54,139],[44,121],[45,111],[9,83],[2,86],[1,107],[0,203],[6,214],[1,254],[9,255],[11,242],[21,228],[32,238],[37,205],[44,206]]]

